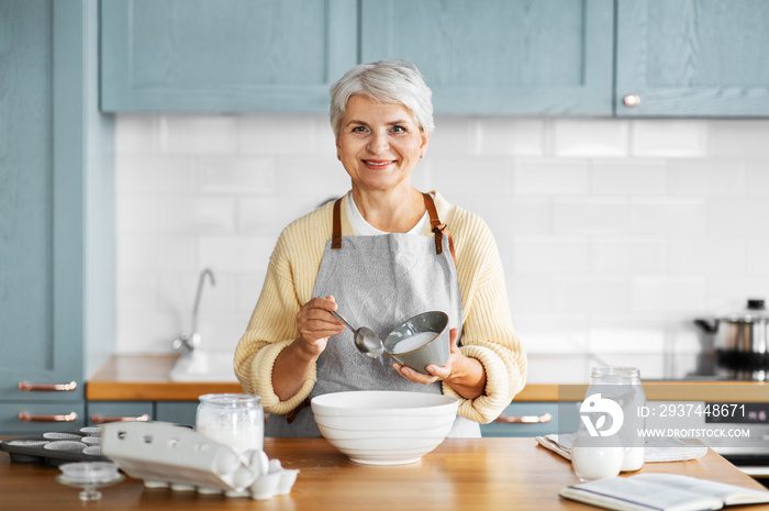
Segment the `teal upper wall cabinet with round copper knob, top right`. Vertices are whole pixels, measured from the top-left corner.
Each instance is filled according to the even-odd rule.
[[[618,0],[616,114],[768,116],[769,2]]]

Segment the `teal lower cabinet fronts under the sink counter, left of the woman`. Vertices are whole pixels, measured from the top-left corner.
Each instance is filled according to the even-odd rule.
[[[198,401],[89,401],[88,424],[163,421],[194,425]]]

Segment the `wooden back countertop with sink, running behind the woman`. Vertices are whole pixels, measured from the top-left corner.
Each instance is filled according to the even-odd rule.
[[[91,401],[197,401],[203,393],[242,392],[237,382],[168,379],[178,354],[115,355],[88,380]],[[647,400],[769,402],[769,384],[758,381],[643,381]],[[515,401],[580,401],[586,385],[530,384]]]

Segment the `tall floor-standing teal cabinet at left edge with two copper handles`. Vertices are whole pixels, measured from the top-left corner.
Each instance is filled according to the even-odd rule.
[[[87,368],[113,347],[97,8],[0,2],[0,435],[85,425]]]

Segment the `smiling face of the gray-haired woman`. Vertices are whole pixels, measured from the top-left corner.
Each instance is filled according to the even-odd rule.
[[[353,186],[388,191],[411,187],[411,171],[428,140],[404,105],[355,95],[347,101],[336,152]]]

